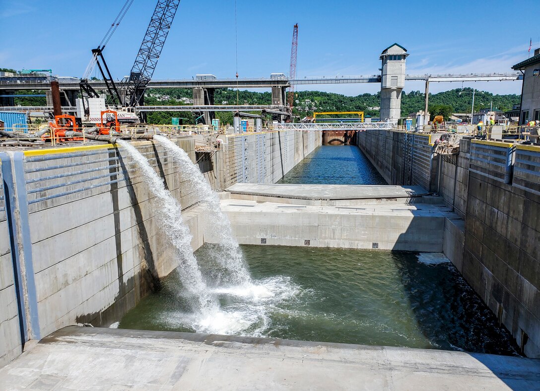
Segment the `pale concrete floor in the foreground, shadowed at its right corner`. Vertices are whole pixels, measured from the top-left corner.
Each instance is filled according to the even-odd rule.
[[[540,389],[540,360],[70,326],[0,369],[0,389]]]

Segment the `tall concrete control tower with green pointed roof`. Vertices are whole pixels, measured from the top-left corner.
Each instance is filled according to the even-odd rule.
[[[381,121],[397,122],[401,117],[401,91],[405,86],[407,49],[394,43],[379,57],[381,68]]]

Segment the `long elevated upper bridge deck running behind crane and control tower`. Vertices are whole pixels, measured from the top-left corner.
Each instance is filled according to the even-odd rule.
[[[521,72],[503,73],[426,73],[423,75],[405,75],[406,80],[423,80],[427,82],[503,82],[505,80],[522,80]],[[50,90],[50,82],[58,80],[61,90],[79,90],[79,80],[51,80],[27,81],[23,77],[11,81],[0,81],[0,90]],[[380,75],[368,76],[317,76],[289,80],[285,78],[239,78],[237,79],[166,79],[151,80],[148,88],[271,88],[289,87],[309,84],[352,84],[352,83],[380,83]],[[103,80],[90,80],[90,85],[96,89],[106,89]]]

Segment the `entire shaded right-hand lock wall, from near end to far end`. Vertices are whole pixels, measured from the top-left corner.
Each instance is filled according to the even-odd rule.
[[[540,358],[540,147],[462,139],[459,154],[428,161],[430,143],[412,137],[367,131],[359,146],[390,184],[422,184],[461,217],[445,220],[443,252],[524,354]]]

